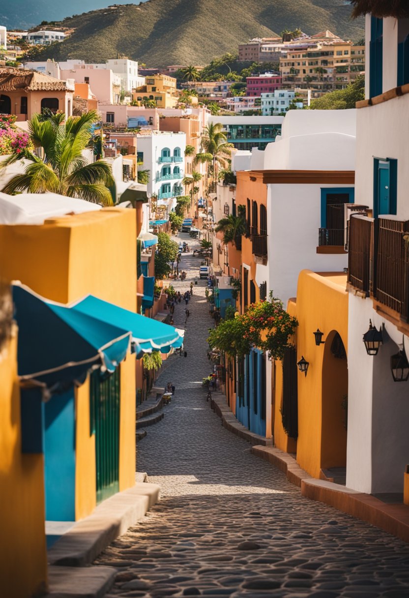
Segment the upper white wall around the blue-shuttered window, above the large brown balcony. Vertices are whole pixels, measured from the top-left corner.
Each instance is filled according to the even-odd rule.
[[[409,94],[357,110],[356,202],[373,207],[374,158],[398,160],[398,210],[409,219]]]

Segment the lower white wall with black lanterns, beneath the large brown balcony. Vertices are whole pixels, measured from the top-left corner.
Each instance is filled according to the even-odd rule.
[[[369,356],[362,341],[369,321],[384,344]],[[348,434],[346,486],[359,492],[403,492],[409,462],[409,382],[393,382],[390,356],[398,353],[402,334],[372,307],[372,301],[349,295]],[[409,353],[409,339],[405,337]]]

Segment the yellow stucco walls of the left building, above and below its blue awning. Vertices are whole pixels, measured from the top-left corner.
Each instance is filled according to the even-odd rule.
[[[0,255],[7,255],[7,260],[0,264],[0,278],[5,282],[21,280],[44,297],[62,303],[93,294],[126,309],[136,310],[134,210],[106,208],[99,212],[50,219],[42,226],[0,226]],[[135,483],[135,356],[128,355],[123,365],[121,490]],[[76,405],[75,512],[76,518],[81,518],[90,514],[96,501],[88,383],[77,390]],[[36,495],[33,502],[39,501],[40,495],[44,501],[42,479],[33,494]],[[41,518],[44,523],[44,505]],[[21,533],[24,536],[25,531],[22,529]],[[18,527],[16,535],[19,536]]]

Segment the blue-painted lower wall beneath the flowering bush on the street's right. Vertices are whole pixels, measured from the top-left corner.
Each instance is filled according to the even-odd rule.
[[[265,405],[264,408],[261,405],[263,396],[265,397],[265,388],[262,392],[262,384],[265,385],[265,380],[262,380],[262,359],[263,353],[258,349],[252,349],[246,355],[244,396],[241,401],[239,396],[236,398],[236,417],[251,432],[265,436]]]

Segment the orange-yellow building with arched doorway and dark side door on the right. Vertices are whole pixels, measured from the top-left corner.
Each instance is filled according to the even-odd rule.
[[[274,444],[297,453],[297,462],[313,477],[331,479],[346,467],[346,274],[301,271],[288,312],[298,319],[296,350],[274,364]],[[306,375],[297,367],[303,357]]]

